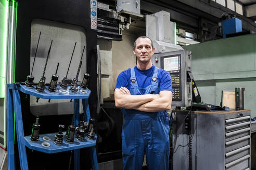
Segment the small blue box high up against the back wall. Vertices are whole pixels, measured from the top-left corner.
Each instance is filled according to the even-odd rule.
[[[226,34],[242,32],[242,21],[237,18],[232,18],[222,21],[222,34],[226,38]]]

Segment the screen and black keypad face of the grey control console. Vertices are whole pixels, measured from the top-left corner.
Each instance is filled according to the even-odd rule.
[[[173,101],[182,100],[182,82],[181,82],[181,54],[163,56],[161,58],[161,67],[170,73],[172,78]]]

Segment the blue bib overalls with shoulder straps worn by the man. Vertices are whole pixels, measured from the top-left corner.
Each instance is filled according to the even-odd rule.
[[[131,68],[131,94],[159,94],[158,69],[156,67],[153,72],[151,84],[146,88],[139,88],[134,68]],[[144,153],[148,169],[168,169],[170,127],[167,112],[144,112],[135,109],[122,109],[122,112],[123,169],[142,169]]]

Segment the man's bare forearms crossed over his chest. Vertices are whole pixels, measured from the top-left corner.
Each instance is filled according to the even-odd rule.
[[[131,95],[124,87],[114,90],[116,107],[154,112],[171,109],[172,92],[161,91],[159,94]]]

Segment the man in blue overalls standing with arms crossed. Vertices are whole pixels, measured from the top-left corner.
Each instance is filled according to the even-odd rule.
[[[152,65],[155,48],[146,36],[134,42],[137,64],[124,70],[114,90],[116,107],[124,114],[123,169],[142,169],[144,153],[149,169],[168,169],[169,118],[172,81],[168,72]]]

